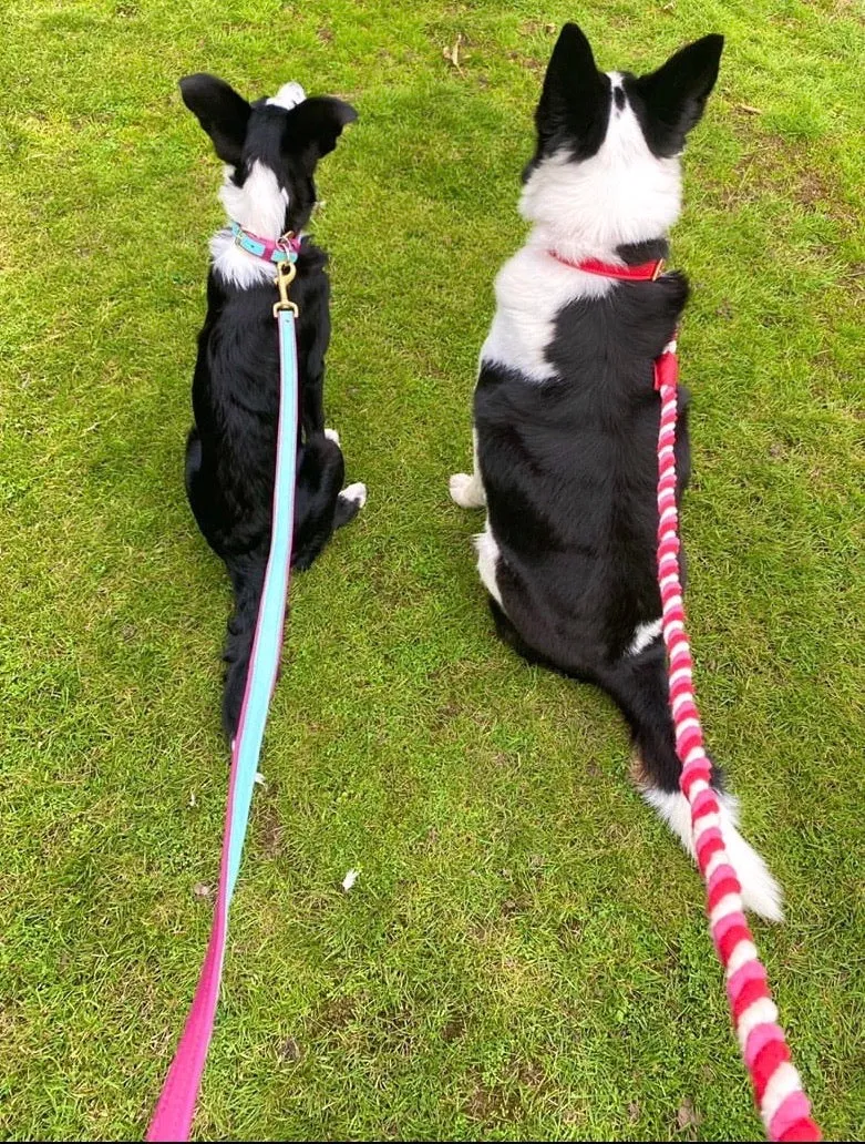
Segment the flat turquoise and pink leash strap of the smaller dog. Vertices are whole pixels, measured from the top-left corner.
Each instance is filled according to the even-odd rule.
[[[190,1138],[195,1102],[201,1087],[201,1074],[205,1070],[207,1050],[214,1031],[216,1004],[219,999],[219,982],[229,932],[229,907],[240,869],[255,776],[258,770],[258,756],[267,722],[267,708],[279,670],[282,625],[291,564],[291,533],[295,521],[297,345],[295,315],[291,309],[280,310],[277,320],[279,323],[280,403],[271,550],[256,620],[243,706],[240,712],[238,734],[232,747],[229,802],[225,810],[225,833],[219,868],[219,893],[195,996],[153,1113],[147,1131],[149,1141],[187,1141]]]

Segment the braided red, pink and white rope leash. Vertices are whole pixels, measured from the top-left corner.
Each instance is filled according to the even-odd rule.
[[[680,787],[691,809],[697,863],[706,883],[712,939],[727,976],[736,1035],[760,1115],[770,1141],[819,1141],[811,1105],[791,1063],[778,1010],[772,1001],[742,904],[742,885],[721,835],[720,808],[710,786],[712,766],[694,697],[690,643],[679,573],[679,514],[675,507],[675,424],[679,360],[673,340],[655,363],[660,392],[658,434],[658,583],[664,615],[664,643],[670,670],[670,705],[675,745],[682,763]]]

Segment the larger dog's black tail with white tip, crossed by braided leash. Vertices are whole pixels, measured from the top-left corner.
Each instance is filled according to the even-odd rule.
[[[688,800],[679,789],[681,763],[675,750],[664,645],[656,639],[598,676],[622,708],[634,739],[634,779],[643,799],[694,857]],[[769,921],[782,920],[782,893],[760,855],[736,828],[737,803],[722,791],[713,764],[712,786],[721,808],[720,828],[730,863],[742,883],[742,900]]]

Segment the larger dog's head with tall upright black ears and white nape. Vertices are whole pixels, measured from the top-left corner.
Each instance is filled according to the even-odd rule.
[[[523,215],[596,254],[666,235],[680,209],[679,157],[722,48],[722,35],[706,35],[649,74],[604,73],[583,32],[566,24],[535,113]]]

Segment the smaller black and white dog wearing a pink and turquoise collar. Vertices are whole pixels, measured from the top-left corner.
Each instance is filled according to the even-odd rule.
[[[275,241],[299,236],[315,205],[313,175],[357,112],[330,97],[306,98],[286,84],[249,104],[214,76],[181,80],[186,106],[225,162],[221,198],[231,222]],[[194,426],[186,445],[186,493],[199,527],[225,562],[234,614],[225,645],[223,726],[231,741],[246,686],[271,542],[279,414],[277,268],[235,241],[226,225],[210,243],[207,318],[192,382]],[[330,339],[323,251],[303,238],[291,301],[297,321],[298,419],[291,565],[307,569],[336,529],[366,501],[342,488],[339,438],[325,428],[325,353]],[[341,491],[342,490],[342,491]]]

